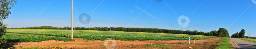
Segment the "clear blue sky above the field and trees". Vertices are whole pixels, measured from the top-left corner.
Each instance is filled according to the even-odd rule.
[[[71,27],[70,4],[70,0],[17,0],[5,23],[8,28]],[[245,36],[250,33],[256,37],[256,4],[252,0],[74,0],[73,7],[74,27],[196,29],[203,32],[227,28],[230,36],[245,29]],[[89,24],[78,20],[82,13],[91,17]],[[187,27],[178,24],[180,16],[189,18]]]

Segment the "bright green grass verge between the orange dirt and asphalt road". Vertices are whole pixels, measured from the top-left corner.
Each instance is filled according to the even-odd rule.
[[[219,45],[219,47],[216,47],[215,49],[232,49],[232,45],[227,43],[229,42],[229,40],[229,38],[224,38],[221,42],[217,44]]]

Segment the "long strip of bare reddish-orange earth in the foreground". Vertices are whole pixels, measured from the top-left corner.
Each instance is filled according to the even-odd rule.
[[[19,42],[15,47],[56,47],[57,43],[60,43],[59,46],[63,47],[85,47],[85,48],[106,48],[104,46],[104,41],[89,41],[89,42],[84,42],[83,39],[78,40],[79,38],[75,38],[75,41],[72,42],[63,42],[63,41],[56,41],[56,40],[50,40],[50,41],[42,41],[42,42]],[[182,43],[188,43],[188,40],[171,40],[171,41],[120,41],[120,40],[115,40],[116,41],[116,47],[115,48],[146,48],[144,45],[146,44],[177,44],[177,42],[182,42]],[[213,41],[218,41],[218,38],[208,38],[208,39],[202,39],[202,40],[196,40],[196,43],[202,43],[202,42],[213,42]],[[194,40],[191,40],[191,44],[194,42]],[[108,42],[108,45],[112,45],[112,42]],[[185,44],[184,44],[185,45]],[[149,47],[152,48],[152,47]]]

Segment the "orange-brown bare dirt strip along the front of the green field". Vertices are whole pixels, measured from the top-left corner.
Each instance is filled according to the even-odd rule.
[[[96,41],[88,41],[83,40],[81,38],[75,38],[75,41],[72,42],[63,42],[63,41],[56,41],[56,40],[50,40],[50,41],[42,41],[42,42],[19,42],[18,44],[15,44],[15,47],[57,47],[57,43],[59,43],[59,46],[63,47],[69,47],[69,48],[92,48],[92,49],[107,49],[104,45],[104,41],[96,40]],[[115,48],[117,49],[145,49],[153,47],[145,47],[146,44],[150,45],[159,45],[159,44],[169,44],[169,47],[171,49],[187,49],[188,47],[192,48],[198,48],[198,49],[207,49],[211,47],[211,43],[204,43],[204,42],[215,42],[218,41],[218,38],[208,38],[208,39],[202,39],[202,40],[194,40],[190,41],[190,44],[188,44],[188,40],[170,40],[170,41],[120,41],[120,40],[114,40],[116,42]],[[183,44],[177,44],[178,42]],[[53,45],[52,45],[53,44]],[[112,41],[108,42],[107,45],[112,45]]]

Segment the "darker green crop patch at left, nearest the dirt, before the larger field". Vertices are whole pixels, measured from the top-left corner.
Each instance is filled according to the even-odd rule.
[[[62,37],[51,37],[42,35],[27,35],[27,34],[17,34],[17,33],[6,33],[1,39],[7,42],[41,42],[46,40],[58,40],[58,41],[74,41],[70,38]]]

